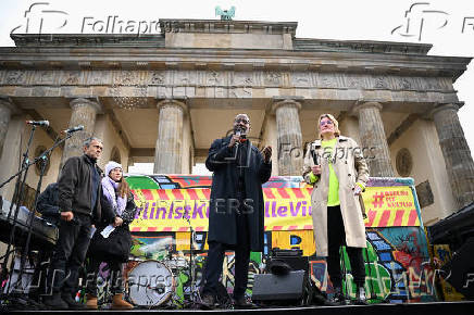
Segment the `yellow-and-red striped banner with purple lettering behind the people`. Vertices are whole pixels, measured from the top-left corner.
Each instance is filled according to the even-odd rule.
[[[312,188],[264,188],[265,230],[311,230]],[[140,213],[132,231],[208,230],[209,188],[135,189]],[[420,226],[408,186],[367,187],[366,227]]]

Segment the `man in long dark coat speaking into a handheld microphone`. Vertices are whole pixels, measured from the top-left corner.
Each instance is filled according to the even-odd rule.
[[[262,184],[272,173],[272,148],[262,153],[247,139],[250,119],[239,114],[234,119],[234,135],[216,139],[209,149],[205,166],[213,172],[209,210],[208,261],[202,290],[203,308],[215,304],[225,250],[235,250],[236,306],[249,306],[247,289],[250,251],[263,251],[264,203]]]

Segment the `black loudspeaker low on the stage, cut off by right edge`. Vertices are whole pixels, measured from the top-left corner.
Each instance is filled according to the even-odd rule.
[[[451,262],[442,266],[441,276],[465,298],[474,299],[474,238],[465,243],[452,255]]]

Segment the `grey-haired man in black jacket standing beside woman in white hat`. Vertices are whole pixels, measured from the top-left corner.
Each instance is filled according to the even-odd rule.
[[[78,274],[93,232],[92,225],[101,216],[101,169],[97,160],[102,154],[102,140],[88,138],[83,149],[82,156],[65,161],[58,179],[61,219],[48,274],[52,294],[45,298],[45,304],[54,310],[84,307],[74,299]]]

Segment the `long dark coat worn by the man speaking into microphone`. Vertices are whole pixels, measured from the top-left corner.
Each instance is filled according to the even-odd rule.
[[[205,160],[205,167],[214,172],[209,209],[208,241],[235,245],[237,244],[237,214],[235,209],[227,206],[227,202],[232,202],[229,200],[237,196],[238,168],[235,161],[226,160],[226,158],[234,156],[236,150],[235,147],[228,148],[230,138],[232,136],[214,140],[209,149],[209,156]],[[249,154],[247,155],[248,167],[244,167],[244,172],[246,199],[251,200],[248,204],[253,207],[253,210],[247,209],[246,211],[250,235],[250,250],[262,252],[264,228],[262,184],[266,182],[271,176],[272,163],[264,163],[259,149],[251,146],[251,143],[248,146],[250,147]]]

